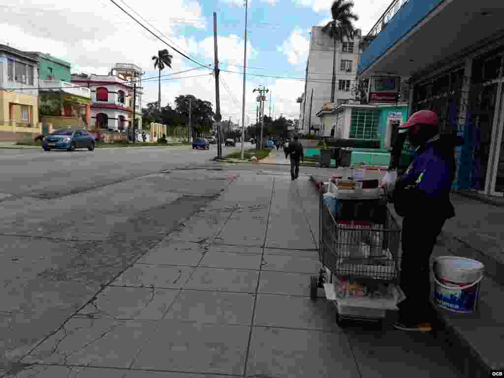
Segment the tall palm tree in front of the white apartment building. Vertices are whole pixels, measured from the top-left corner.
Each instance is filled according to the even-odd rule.
[[[343,43],[343,38],[348,40],[353,39],[355,27],[353,21],[357,21],[359,16],[352,13],[354,4],[348,0],[335,0],[331,6],[332,20],[322,28],[322,31],[333,38],[334,41],[334,57],[333,57],[333,80],[331,82],[331,102],[334,102],[334,93],[336,91],[336,45],[340,41]]]

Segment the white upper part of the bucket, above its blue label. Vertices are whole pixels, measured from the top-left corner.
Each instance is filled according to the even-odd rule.
[[[437,278],[454,283],[469,284],[483,276],[485,266],[479,261],[458,256],[440,256],[434,261]]]

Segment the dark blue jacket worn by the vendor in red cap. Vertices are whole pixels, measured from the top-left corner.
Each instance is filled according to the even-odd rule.
[[[444,221],[455,216],[450,201],[456,169],[455,145],[453,137],[443,136],[418,149],[417,157],[394,190],[394,207],[400,216],[425,221]]]

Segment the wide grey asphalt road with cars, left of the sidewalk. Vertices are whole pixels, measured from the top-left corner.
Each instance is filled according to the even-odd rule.
[[[0,149],[0,376],[226,189],[216,152]]]

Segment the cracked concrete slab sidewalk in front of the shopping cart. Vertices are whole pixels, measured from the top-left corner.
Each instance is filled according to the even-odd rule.
[[[318,206],[306,176],[239,173],[8,376],[459,376],[431,335],[343,330],[310,300]]]

